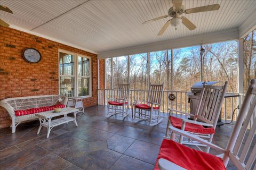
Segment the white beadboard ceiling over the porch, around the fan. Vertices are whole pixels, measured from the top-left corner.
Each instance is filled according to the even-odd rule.
[[[105,53],[145,44],[172,41],[206,33],[239,29],[256,10],[255,0],[183,0],[185,8],[220,4],[218,11],[183,14],[197,28],[169,27],[158,31],[170,18],[142,25],[143,21],[166,15],[171,1],[154,0],[1,0],[13,14],[0,11],[0,18],[35,35]],[[251,29],[251,28],[250,28]]]

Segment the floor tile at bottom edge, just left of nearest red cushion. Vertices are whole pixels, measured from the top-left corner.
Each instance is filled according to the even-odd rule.
[[[111,170],[150,170],[154,165],[145,163],[141,160],[122,155],[117,162],[110,168]]]

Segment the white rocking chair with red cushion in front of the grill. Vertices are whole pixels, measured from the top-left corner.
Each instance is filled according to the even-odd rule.
[[[227,90],[227,85],[227,81],[225,82],[224,86],[210,86],[204,84],[201,95],[199,97],[195,115],[177,111],[175,109],[169,109],[169,119],[165,134],[166,138],[172,138],[172,140],[175,140],[175,133],[172,131],[172,129],[181,129],[182,131],[179,133],[180,137],[178,139],[180,144],[183,143],[186,145],[194,145],[200,150],[202,149],[199,148],[199,146],[206,147],[206,152],[209,152],[210,147],[207,147],[202,143],[198,143],[191,139],[185,140],[183,139],[182,134],[186,131],[193,133],[198,137],[207,139],[209,142],[212,142],[212,138],[221,112],[224,96]],[[194,120],[174,117],[172,116],[173,112],[194,116]]]

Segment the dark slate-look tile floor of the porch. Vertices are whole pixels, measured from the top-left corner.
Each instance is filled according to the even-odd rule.
[[[0,129],[0,169],[153,169],[167,120],[150,127],[133,123],[131,114],[107,119],[106,112],[105,106],[86,108],[78,128],[73,122],[57,126],[49,139],[46,128],[36,134],[38,121],[18,125],[14,134]],[[217,128],[213,142],[225,147],[232,127]]]

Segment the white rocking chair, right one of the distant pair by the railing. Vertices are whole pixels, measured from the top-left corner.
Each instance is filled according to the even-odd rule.
[[[133,104],[135,123],[140,121],[149,121],[150,126],[155,126],[163,120],[163,118],[160,118],[159,116],[163,86],[164,84],[150,84],[147,101],[135,100],[135,103]],[[137,109],[139,110],[138,112]],[[153,115],[154,112],[156,115]]]

